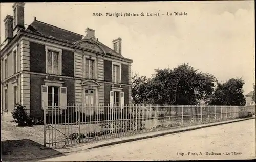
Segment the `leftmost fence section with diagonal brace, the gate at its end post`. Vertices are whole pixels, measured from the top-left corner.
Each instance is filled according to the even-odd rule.
[[[48,106],[44,109],[44,145],[47,147],[65,146],[81,142],[80,107],[69,105],[63,109]]]

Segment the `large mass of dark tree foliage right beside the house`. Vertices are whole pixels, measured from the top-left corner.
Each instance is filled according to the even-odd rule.
[[[198,104],[214,91],[215,77],[182,64],[174,69],[158,69],[152,78],[133,76],[134,103]]]

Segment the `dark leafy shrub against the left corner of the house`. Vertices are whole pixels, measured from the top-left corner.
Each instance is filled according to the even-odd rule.
[[[32,119],[27,114],[25,109],[26,107],[21,104],[15,104],[14,110],[12,112],[12,117],[14,122],[18,124],[18,126],[31,126],[33,125]]]

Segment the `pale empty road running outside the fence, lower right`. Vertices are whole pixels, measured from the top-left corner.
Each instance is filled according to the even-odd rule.
[[[255,149],[255,119],[251,119],[70,153],[45,161],[255,159]]]

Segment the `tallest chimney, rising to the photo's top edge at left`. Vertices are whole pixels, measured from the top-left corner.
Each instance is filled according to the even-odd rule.
[[[12,5],[13,8],[13,36],[15,36],[20,29],[25,29],[24,26],[24,2],[15,2]]]

